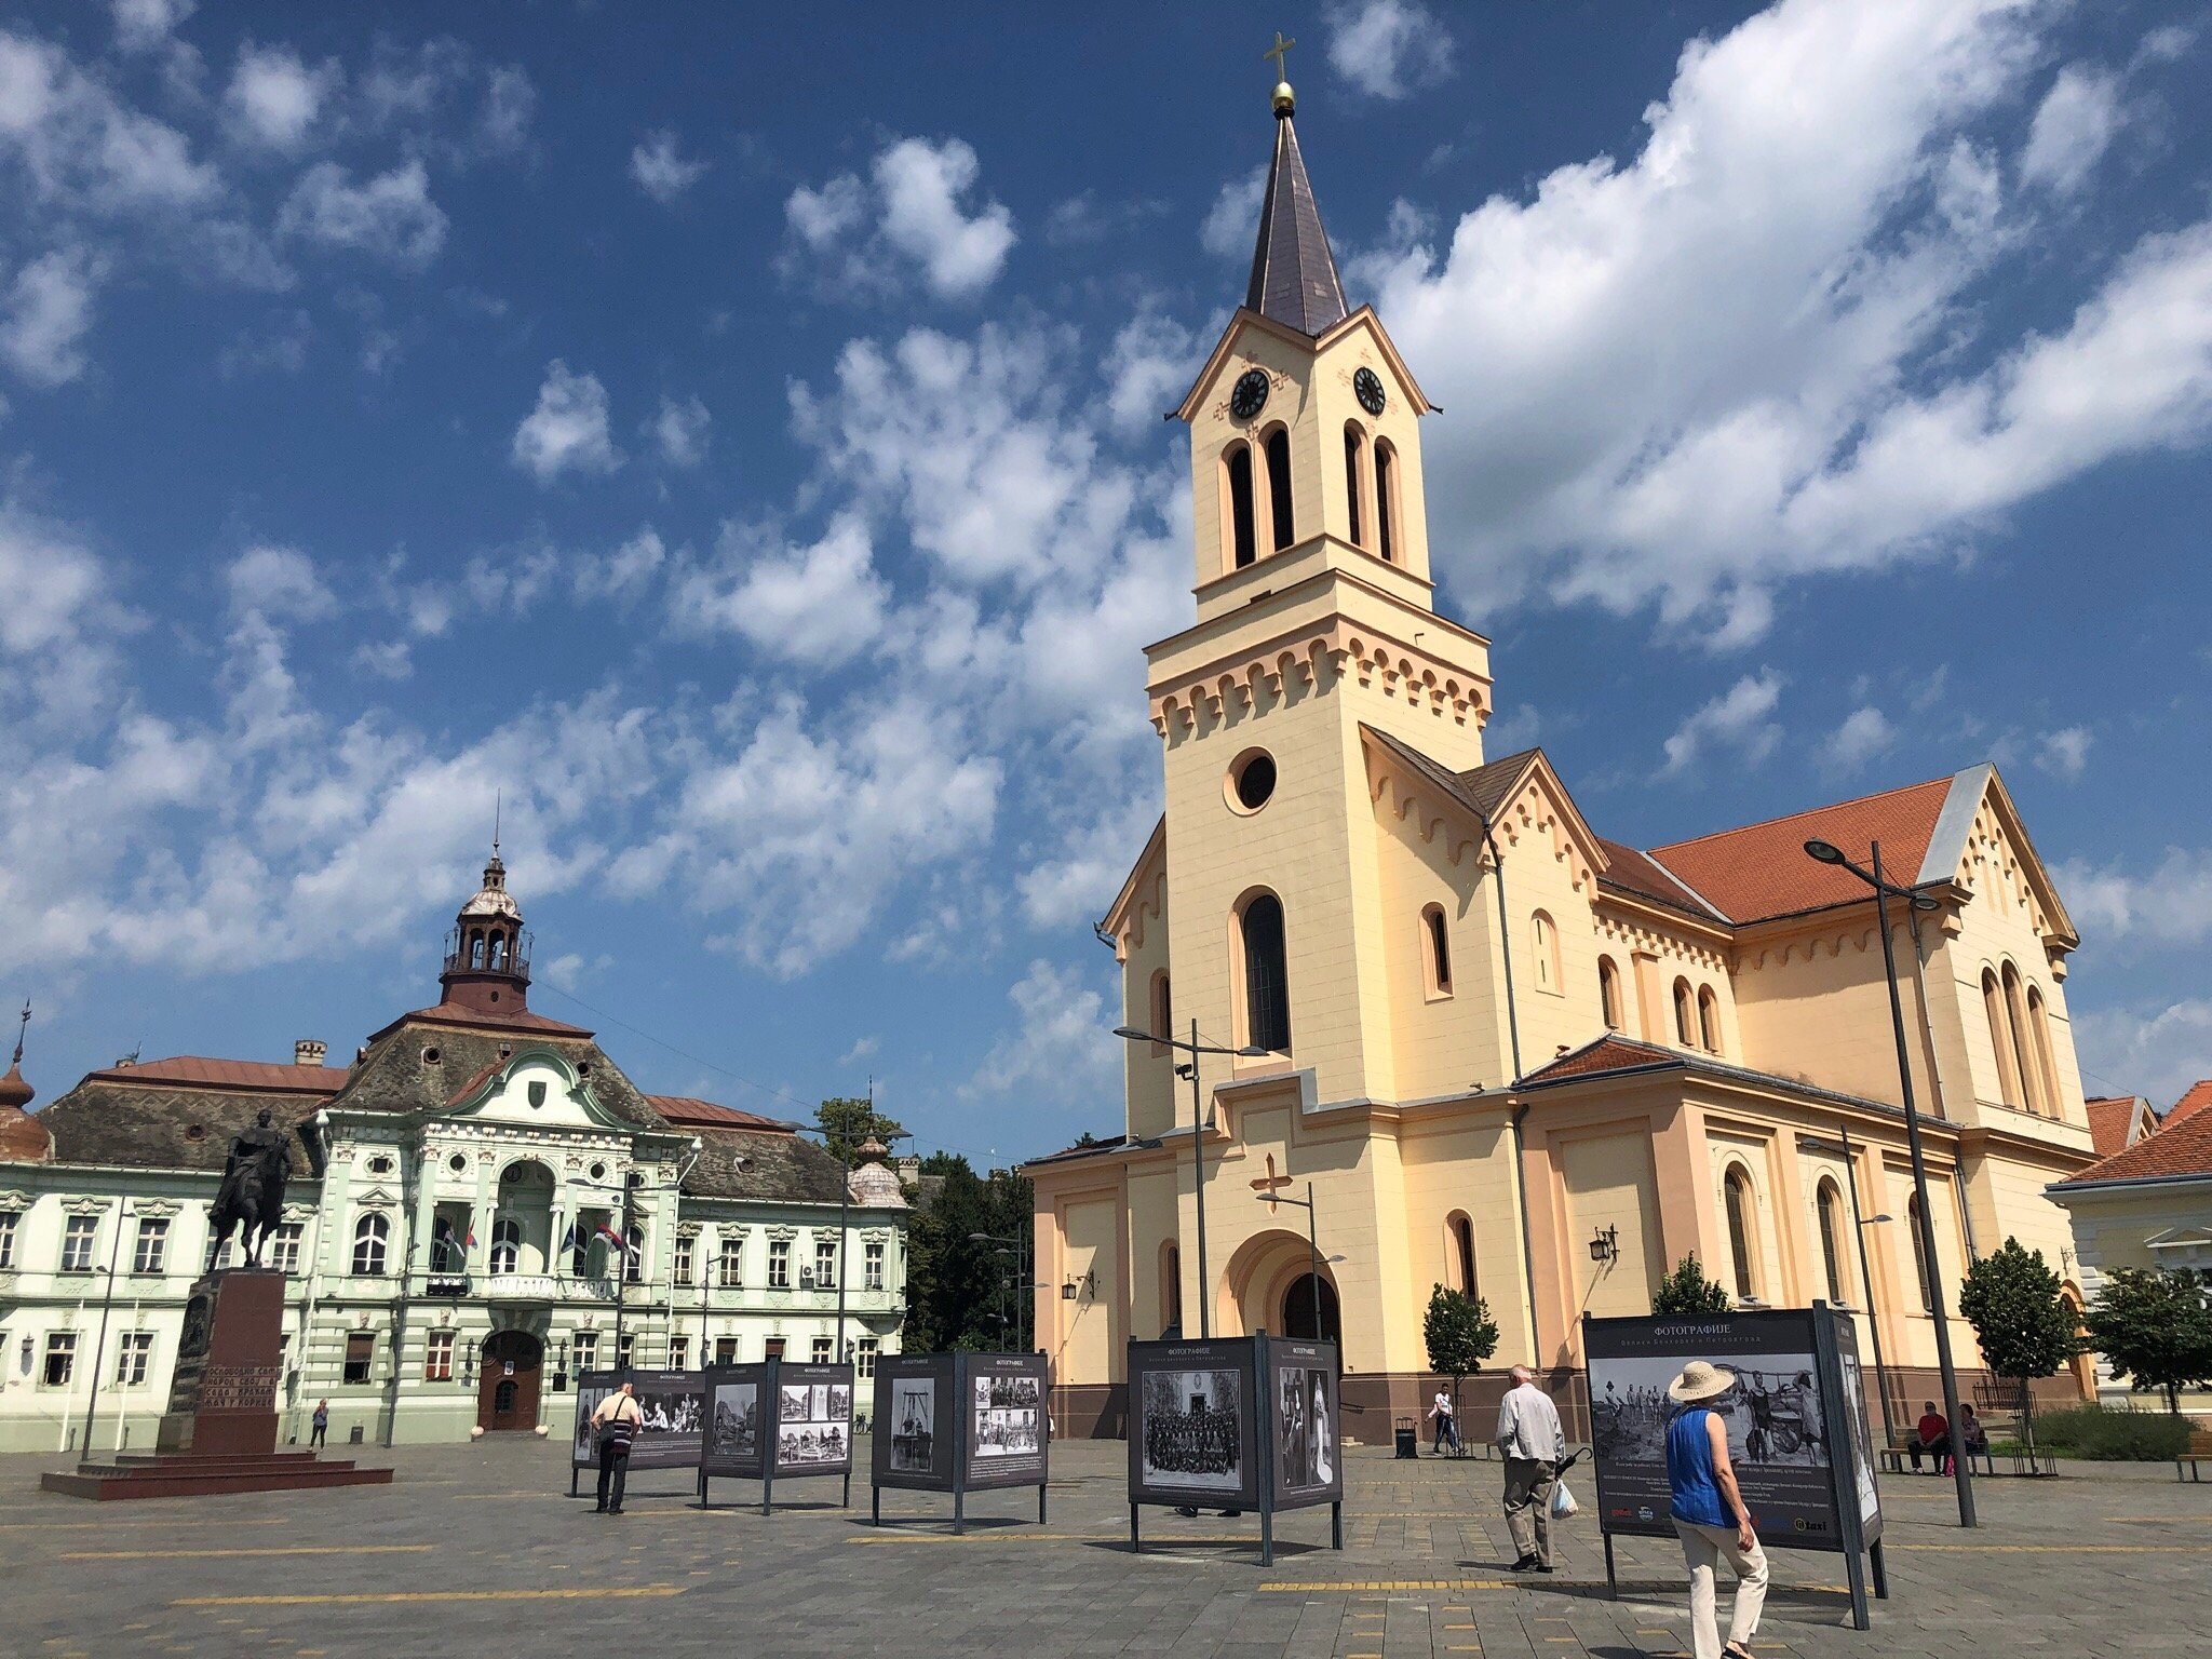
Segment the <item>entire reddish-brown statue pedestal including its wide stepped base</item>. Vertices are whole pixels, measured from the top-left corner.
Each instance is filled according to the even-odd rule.
[[[276,1451],[283,1374],[283,1274],[232,1267],[192,1285],[177,1374],[155,1455],[80,1462],[40,1478],[71,1498],[206,1498],[299,1486],[380,1486],[389,1469],[356,1469],[312,1451]]]

